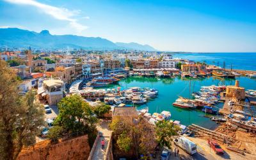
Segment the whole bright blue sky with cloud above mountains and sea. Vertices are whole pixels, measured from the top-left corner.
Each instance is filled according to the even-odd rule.
[[[0,28],[7,27],[160,51],[255,52],[256,1],[0,0]]]

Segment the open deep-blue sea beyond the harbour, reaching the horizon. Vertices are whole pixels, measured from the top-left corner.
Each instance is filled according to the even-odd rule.
[[[193,61],[205,61],[207,64],[225,68],[256,70],[256,52],[214,52],[214,53],[181,53],[174,54],[174,58],[184,58]]]

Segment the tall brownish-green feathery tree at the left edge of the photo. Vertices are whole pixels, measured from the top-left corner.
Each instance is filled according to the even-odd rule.
[[[44,108],[35,101],[35,92],[18,95],[15,72],[3,60],[0,77],[0,155],[2,159],[16,159],[23,146],[35,143],[44,125]]]

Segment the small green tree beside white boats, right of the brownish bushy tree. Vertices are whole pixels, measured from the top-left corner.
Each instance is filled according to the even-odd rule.
[[[161,147],[171,148],[172,136],[178,134],[179,127],[173,123],[163,120],[156,123],[156,140]]]

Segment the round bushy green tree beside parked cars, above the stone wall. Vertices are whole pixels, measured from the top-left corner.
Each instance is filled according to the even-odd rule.
[[[62,126],[68,132],[88,131],[95,127],[97,118],[92,115],[92,109],[79,95],[71,95],[58,103],[59,115],[54,125]]]

